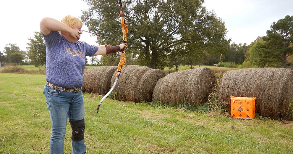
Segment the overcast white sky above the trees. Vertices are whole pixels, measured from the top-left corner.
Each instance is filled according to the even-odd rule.
[[[204,6],[225,22],[227,38],[236,44],[250,44],[258,36],[265,36],[271,23],[293,15],[293,0],[205,0]],[[87,7],[82,0],[2,1],[0,51],[9,43],[26,50],[27,39],[33,37],[34,31],[40,31],[43,17],[57,20],[68,14],[80,17],[81,10]],[[87,30],[85,26],[82,29]],[[88,33],[83,33],[80,40],[96,44],[96,38]]]

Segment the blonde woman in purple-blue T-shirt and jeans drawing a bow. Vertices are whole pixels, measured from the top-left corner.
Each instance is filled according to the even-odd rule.
[[[85,153],[85,109],[81,91],[85,56],[111,54],[127,47],[124,44],[94,46],[78,41],[81,27],[82,21],[71,15],[61,21],[45,17],[40,22],[46,41],[44,94],[51,118],[51,154],[64,153],[67,117],[72,128],[72,153]]]

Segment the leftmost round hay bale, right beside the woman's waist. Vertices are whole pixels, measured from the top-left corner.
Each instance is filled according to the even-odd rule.
[[[88,69],[83,75],[82,92],[106,94],[110,90],[111,78],[116,71],[117,66],[102,66]]]

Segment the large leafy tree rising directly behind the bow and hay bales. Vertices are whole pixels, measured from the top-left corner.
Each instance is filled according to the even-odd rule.
[[[83,11],[81,19],[90,29],[101,35],[122,38],[119,12],[116,0],[85,0],[90,8]],[[185,52],[194,55],[203,52],[208,44],[216,44],[217,30],[224,22],[218,22],[211,12],[203,7],[203,0],[127,0],[124,14],[129,28],[128,41],[137,46],[129,46],[128,53],[137,55],[139,65],[163,69],[166,58],[178,53],[178,46],[193,46]],[[95,5],[92,5],[92,4]],[[115,20],[116,19],[116,20]],[[212,23],[212,24],[211,24]],[[226,32],[226,29],[224,33]],[[111,42],[98,37],[98,42]],[[209,50],[211,51],[211,50]],[[191,53],[192,52],[192,53]],[[180,53],[182,54],[182,53]]]

